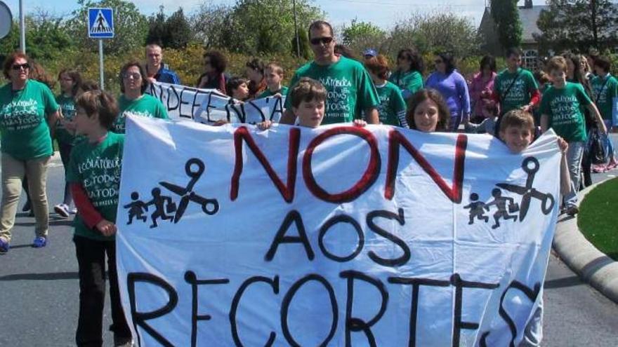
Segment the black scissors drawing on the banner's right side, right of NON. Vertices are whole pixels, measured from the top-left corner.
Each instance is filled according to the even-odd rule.
[[[515,184],[499,183],[496,184],[502,189],[512,191],[522,196],[519,220],[520,222],[526,217],[528,207],[530,207],[530,200],[536,198],[541,200],[541,211],[544,215],[548,215],[553,208],[555,200],[551,194],[541,193],[537,189],[532,188],[532,182],[534,182],[534,175],[539,171],[539,161],[532,156],[525,158],[522,162],[522,169],[528,174],[526,179],[526,186],[516,186]]]

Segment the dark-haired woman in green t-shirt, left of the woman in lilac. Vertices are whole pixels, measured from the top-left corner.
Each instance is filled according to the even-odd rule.
[[[401,89],[401,94],[408,100],[418,90],[423,89],[423,57],[409,48],[397,53],[397,69],[390,75],[388,81],[395,83]]]

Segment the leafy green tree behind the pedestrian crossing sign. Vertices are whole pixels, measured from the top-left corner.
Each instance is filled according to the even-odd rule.
[[[72,12],[67,22],[71,38],[79,48],[98,49],[98,40],[88,39],[88,8],[110,7],[114,9],[114,39],[105,40],[105,51],[121,53],[143,46],[148,33],[148,20],[135,4],[125,0],[77,0],[79,8]]]

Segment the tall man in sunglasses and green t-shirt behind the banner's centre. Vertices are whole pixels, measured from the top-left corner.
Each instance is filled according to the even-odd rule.
[[[364,111],[367,123],[378,124],[380,104],[372,79],[360,62],[335,55],[333,29],[328,22],[317,20],[309,26],[309,41],[313,62],[303,65],[291,79],[289,89],[302,77],[320,81],[327,89],[326,111],[322,124],[349,123],[360,118]],[[296,116],[291,110],[291,97],[285,101],[283,124],[294,124]]]

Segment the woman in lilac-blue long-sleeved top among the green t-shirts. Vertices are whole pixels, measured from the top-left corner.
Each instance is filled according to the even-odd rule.
[[[435,55],[435,72],[430,74],[425,83],[426,88],[438,90],[444,97],[451,119],[450,131],[457,131],[459,123],[467,123],[470,119],[470,95],[466,79],[457,72],[455,58],[451,53],[438,53]]]

